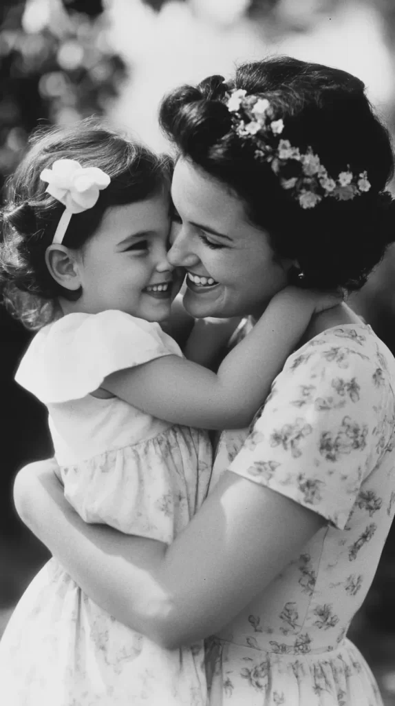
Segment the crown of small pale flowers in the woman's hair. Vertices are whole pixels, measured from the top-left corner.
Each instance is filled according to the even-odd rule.
[[[301,153],[289,140],[282,140],[279,136],[284,130],[284,122],[282,118],[274,119],[266,98],[246,95],[243,89],[231,90],[228,95],[232,130],[243,140],[253,143],[256,160],[270,164],[280,178],[282,188],[299,201],[301,208],[314,208],[327,196],[350,201],[369,191],[367,172],[356,175],[348,169],[332,179],[311,147]]]

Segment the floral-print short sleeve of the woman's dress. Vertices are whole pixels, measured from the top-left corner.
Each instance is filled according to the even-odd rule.
[[[380,390],[368,356],[314,344],[288,359],[229,469],[343,530],[377,462]]]

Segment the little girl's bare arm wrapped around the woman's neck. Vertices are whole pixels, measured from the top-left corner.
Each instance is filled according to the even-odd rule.
[[[247,426],[321,302],[322,297],[307,290],[283,289],[251,333],[227,354],[218,373],[168,355],[117,371],[101,386],[173,424],[203,429]]]

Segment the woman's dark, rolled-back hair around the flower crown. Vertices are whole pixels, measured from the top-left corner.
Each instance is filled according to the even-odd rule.
[[[311,147],[330,177],[368,172],[370,191],[301,208],[270,165],[255,159],[253,141],[232,129],[230,88],[265,97],[284,121],[281,137],[301,152]],[[391,142],[355,76],[287,56],[242,64],[232,83],[210,76],[196,88],[174,90],[160,119],[180,155],[242,198],[277,256],[298,261],[301,286],[358,289],[395,240],[394,202],[385,190],[394,170]]]

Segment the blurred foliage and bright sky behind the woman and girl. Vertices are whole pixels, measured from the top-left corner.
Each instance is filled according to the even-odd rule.
[[[2,0],[0,188],[37,126],[99,114],[166,148],[158,130],[163,94],[239,61],[291,54],[351,71],[395,133],[394,0]],[[394,184],[390,188],[394,191]],[[395,224],[394,224],[395,229]],[[395,249],[351,304],[395,353]],[[15,517],[15,472],[51,455],[46,414],[13,383],[30,335],[0,309],[2,473],[0,634],[46,559]],[[395,706],[395,530],[368,599],[351,626]]]

